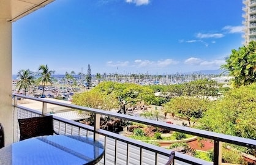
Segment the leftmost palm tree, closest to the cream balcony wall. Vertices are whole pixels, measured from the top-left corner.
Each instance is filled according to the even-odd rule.
[[[29,86],[34,82],[34,76],[31,70],[27,69],[18,71],[18,78],[20,78],[20,80],[17,82],[16,87],[18,87],[18,90],[24,89],[24,95],[26,95],[26,90],[29,89]]]

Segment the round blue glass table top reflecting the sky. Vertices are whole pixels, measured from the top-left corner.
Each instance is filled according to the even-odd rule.
[[[96,164],[104,146],[83,136],[42,136],[0,149],[0,164]]]

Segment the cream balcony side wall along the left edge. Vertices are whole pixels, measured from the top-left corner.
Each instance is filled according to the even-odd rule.
[[[6,145],[12,143],[12,23],[4,18],[0,18],[0,122]]]

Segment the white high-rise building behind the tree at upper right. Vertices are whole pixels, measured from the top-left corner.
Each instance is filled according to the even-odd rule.
[[[256,0],[243,0],[244,10],[244,39],[247,45],[251,40],[256,41]]]

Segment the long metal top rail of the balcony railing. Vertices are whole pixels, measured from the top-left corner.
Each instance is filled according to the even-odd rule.
[[[34,98],[34,97],[29,97],[29,96],[24,96],[24,95],[17,95],[17,94],[13,94],[13,96],[27,98],[30,100],[41,101],[42,103],[50,103],[53,105],[64,106],[64,107],[72,108],[72,109],[78,109],[81,111],[96,113],[96,114],[100,114],[100,115],[104,115],[104,116],[116,117],[116,118],[123,119],[123,120],[129,120],[132,122],[143,123],[145,125],[152,125],[154,127],[165,128],[165,129],[169,129],[172,131],[178,131],[178,132],[186,133],[186,134],[192,134],[192,135],[199,136],[202,138],[212,139],[214,141],[227,142],[230,144],[236,144],[236,145],[241,145],[241,146],[245,146],[245,147],[250,147],[252,149],[256,149],[256,140],[253,140],[253,139],[240,138],[237,136],[230,136],[227,134],[220,134],[220,133],[214,133],[211,131],[183,127],[180,125],[173,125],[170,123],[164,123],[164,122],[159,122],[159,121],[155,121],[155,120],[144,119],[141,117],[118,114],[116,112],[104,111],[101,109],[88,108],[88,107],[84,107],[84,106],[77,106],[77,105],[71,105],[71,104],[67,104],[67,103],[61,103],[59,101],[51,101],[51,100],[45,100],[42,98]]]

